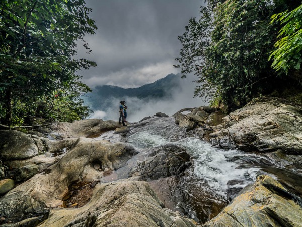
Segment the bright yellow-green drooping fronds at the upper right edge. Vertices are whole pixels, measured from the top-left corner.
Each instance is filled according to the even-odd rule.
[[[271,24],[281,22],[282,29],[275,44],[277,49],[272,52],[270,58],[274,61],[272,67],[277,71],[288,73],[289,69],[301,69],[302,62],[302,5],[288,12],[274,14]]]

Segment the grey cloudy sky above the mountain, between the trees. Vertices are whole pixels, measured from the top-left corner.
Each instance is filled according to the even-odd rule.
[[[82,44],[78,58],[97,67],[79,72],[83,82],[134,88],[152,83],[170,73],[179,55],[178,35],[185,32],[191,17],[199,16],[203,0],[86,0],[93,9],[95,35],[85,40],[92,49],[85,54]],[[193,91],[192,91],[193,93]]]

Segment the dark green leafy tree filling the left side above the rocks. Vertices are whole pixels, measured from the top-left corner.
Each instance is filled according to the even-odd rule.
[[[77,40],[84,41],[86,33],[94,34],[97,29],[89,18],[90,11],[84,0],[1,1],[2,122],[22,123],[26,117],[35,116],[37,100],[51,96],[56,90],[67,93],[79,87],[83,92],[90,90],[79,83],[81,77],[75,72],[96,64],[86,59],[73,59]],[[85,41],[84,46],[89,53]]]

